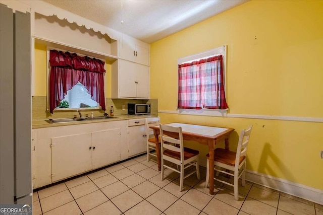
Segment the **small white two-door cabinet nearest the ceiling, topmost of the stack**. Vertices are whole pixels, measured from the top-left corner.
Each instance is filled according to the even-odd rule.
[[[149,65],[148,44],[124,34],[120,39],[119,47],[121,58]]]

